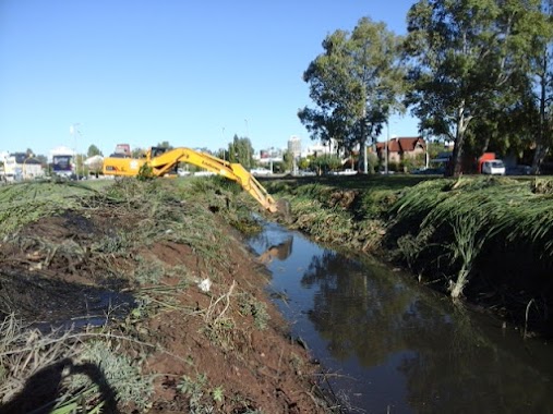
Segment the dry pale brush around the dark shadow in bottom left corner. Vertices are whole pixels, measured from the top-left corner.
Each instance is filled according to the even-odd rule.
[[[125,341],[153,346],[105,330],[43,333],[10,315],[0,324],[0,412],[21,412],[36,398],[31,411],[41,404],[37,412],[52,414],[148,407],[153,378],[125,355]]]

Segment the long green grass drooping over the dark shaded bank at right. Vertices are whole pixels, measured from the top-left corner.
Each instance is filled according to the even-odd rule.
[[[419,256],[428,261],[433,256],[447,276],[452,296],[458,297],[486,246],[531,244],[539,259],[552,259],[552,202],[550,194],[536,194],[529,181],[435,180],[402,193],[393,207],[395,234],[412,234],[419,241],[417,251],[406,248],[406,239],[398,243],[407,261],[416,263]],[[441,256],[448,259],[437,260]]]

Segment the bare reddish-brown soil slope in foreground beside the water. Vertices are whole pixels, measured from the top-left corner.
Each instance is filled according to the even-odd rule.
[[[171,266],[191,268],[195,261],[189,247],[172,243],[157,244],[152,253]],[[265,302],[263,268],[238,248],[230,263],[224,279],[214,282],[211,295],[194,287],[176,300],[182,306],[194,304],[197,309],[206,309],[236,282],[233,291],[248,292]],[[197,275],[204,270],[196,267]],[[177,280],[165,282],[171,284]],[[221,306],[217,312],[223,309]],[[159,338],[167,351],[152,355],[147,364],[152,373],[163,374],[155,383],[158,400],[153,412],[181,413],[187,401],[177,390],[178,380],[183,374],[195,378],[199,373],[206,375],[212,388],[223,387],[225,395],[235,395],[235,402],[228,398],[217,406],[220,412],[239,413],[254,409],[264,413],[323,412],[314,403],[314,367],[308,363],[309,355],[287,339],[286,324],[269,304],[267,312],[269,326],[260,330],[251,315],[241,315],[230,306],[225,317],[232,319],[235,326],[221,332],[228,337],[220,339],[219,346],[214,346],[203,332],[206,328],[203,316],[172,310],[149,319],[147,329]]]

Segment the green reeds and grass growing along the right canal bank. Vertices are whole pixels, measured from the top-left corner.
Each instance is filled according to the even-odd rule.
[[[538,260],[541,268],[553,261],[553,184],[548,179],[461,176],[414,182],[407,176],[398,181],[373,176],[306,184],[288,181],[272,188],[290,198],[292,227],[352,249],[359,247],[360,235],[371,239],[360,229],[371,229],[373,240],[361,243],[365,251],[385,246],[416,275],[433,280],[442,275],[443,285],[455,297],[462,295],[477,261],[504,260],[494,254],[516,252],[519,246],[521,261]],[[353,194],[352,199],[336,203],[335,195],[345,191]]]

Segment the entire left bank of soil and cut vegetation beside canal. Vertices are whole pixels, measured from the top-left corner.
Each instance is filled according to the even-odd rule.
[[[237,188],[0,187],[0,412],[327,412]]]

